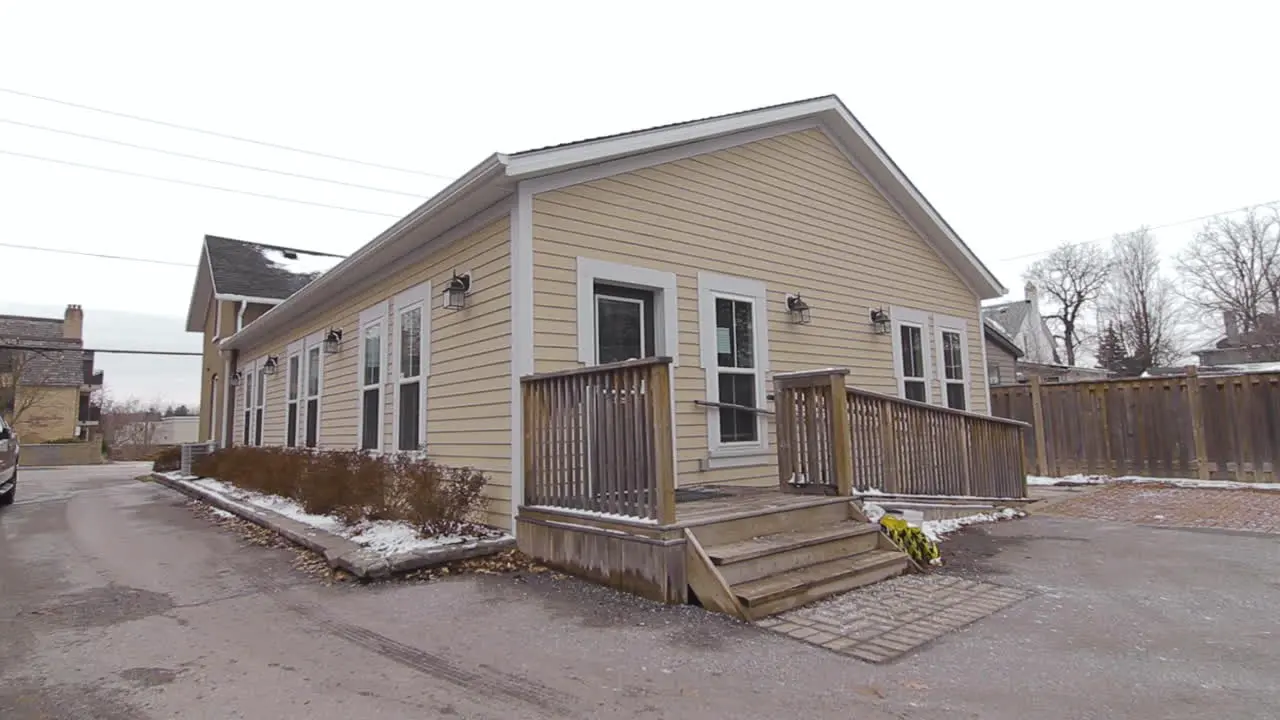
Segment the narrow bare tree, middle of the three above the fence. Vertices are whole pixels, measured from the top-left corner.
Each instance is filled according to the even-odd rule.
[[[1102,311],[1134,365],[1169,365],[1179,355],[1179,305],[1172,283],[1160,273],[1160,251],[1147,228],[1111,240],[1111,274]]]

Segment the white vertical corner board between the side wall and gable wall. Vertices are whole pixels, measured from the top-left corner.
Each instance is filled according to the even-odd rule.
[[[534,195],[520,183],[511,209],[511,530],[525,501],[520,378],[534,372]]]

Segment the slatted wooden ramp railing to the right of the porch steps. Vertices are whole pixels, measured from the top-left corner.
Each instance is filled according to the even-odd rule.
[[[1027,496],[1024,423],[849,388],[847,374],[774,375],[783,489]]]

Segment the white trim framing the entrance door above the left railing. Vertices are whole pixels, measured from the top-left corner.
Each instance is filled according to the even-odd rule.
[[[672,365],[680,365],[680,322],[676,302],[676,273],[623,265],[594,258],[577,259],[577,361],[584,365],[598,364],[595,356],[595,283],[621,284],[657,291],[654,313],[654,337],[660,343],[654,352],[671,357]]]

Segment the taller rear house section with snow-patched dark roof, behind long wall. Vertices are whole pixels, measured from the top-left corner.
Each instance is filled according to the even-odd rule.
[[[193,439],[216,439],[225,415],[225,363],[218,343],[337,265],[340,255],[205,236],[196,286],[187,309],[187,332],[204,333],[200,424]]]

